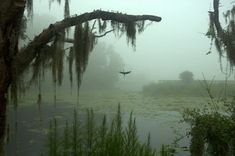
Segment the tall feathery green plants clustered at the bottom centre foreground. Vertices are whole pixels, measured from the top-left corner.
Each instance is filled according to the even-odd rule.
[[[92,110],[87,110],[85,123],[79,120],[77,111],[71,125],[66,122],[63,133],[58,132],[57,122],[50,124],[48,136],[49,156],[156,156],[150,146],[150,135],[142,143],[137,135],[133,113],[126,126],[123,125],[120,105],[111,122],[104,116],[97,124]],[[162,149],[164,150],[164,149]],[[161,151],[167,155],[167,151]],[[161,153],[160,153],[161,155]]]

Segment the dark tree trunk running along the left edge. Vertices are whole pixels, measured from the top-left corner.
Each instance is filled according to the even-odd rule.
[[[14,76],[12,62],[18,53],[19,30],[25,1],[0,2],[0,156],[4,156],[7,93]]]

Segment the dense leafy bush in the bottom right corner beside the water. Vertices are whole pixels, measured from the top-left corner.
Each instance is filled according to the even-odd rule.
[[[208,108],[185,110],[184,121],[191,125],[190,152],[192,156],[230,156],[235,154],[234,99],[215,100],[206,81],[210,97]],[[218,105],[224,104],[227,112],[221,112]]]

